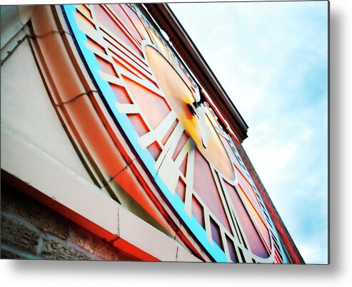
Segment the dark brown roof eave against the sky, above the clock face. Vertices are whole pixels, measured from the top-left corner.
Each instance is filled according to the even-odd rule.
[[[233,105],[226,91],[218,82],[211,68],[209,68],[198,48],[196,48],[183,26],[176,19],[170,7],[167,4],[137,5],[142,11],[145,10],[145,6],[160,28],[167,33],[178,54],[191,69],[199,83],[206,89],[213,103],[216,104],[233,132],[235,132],[238,140],[243,142],[247,137],[248,125],[241,114],[238,113],[235,105]]]

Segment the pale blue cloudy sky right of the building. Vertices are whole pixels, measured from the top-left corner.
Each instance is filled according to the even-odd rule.
[[[243,147],[303,259],[327,263],[327,1],[169,6],[248,124]]]

